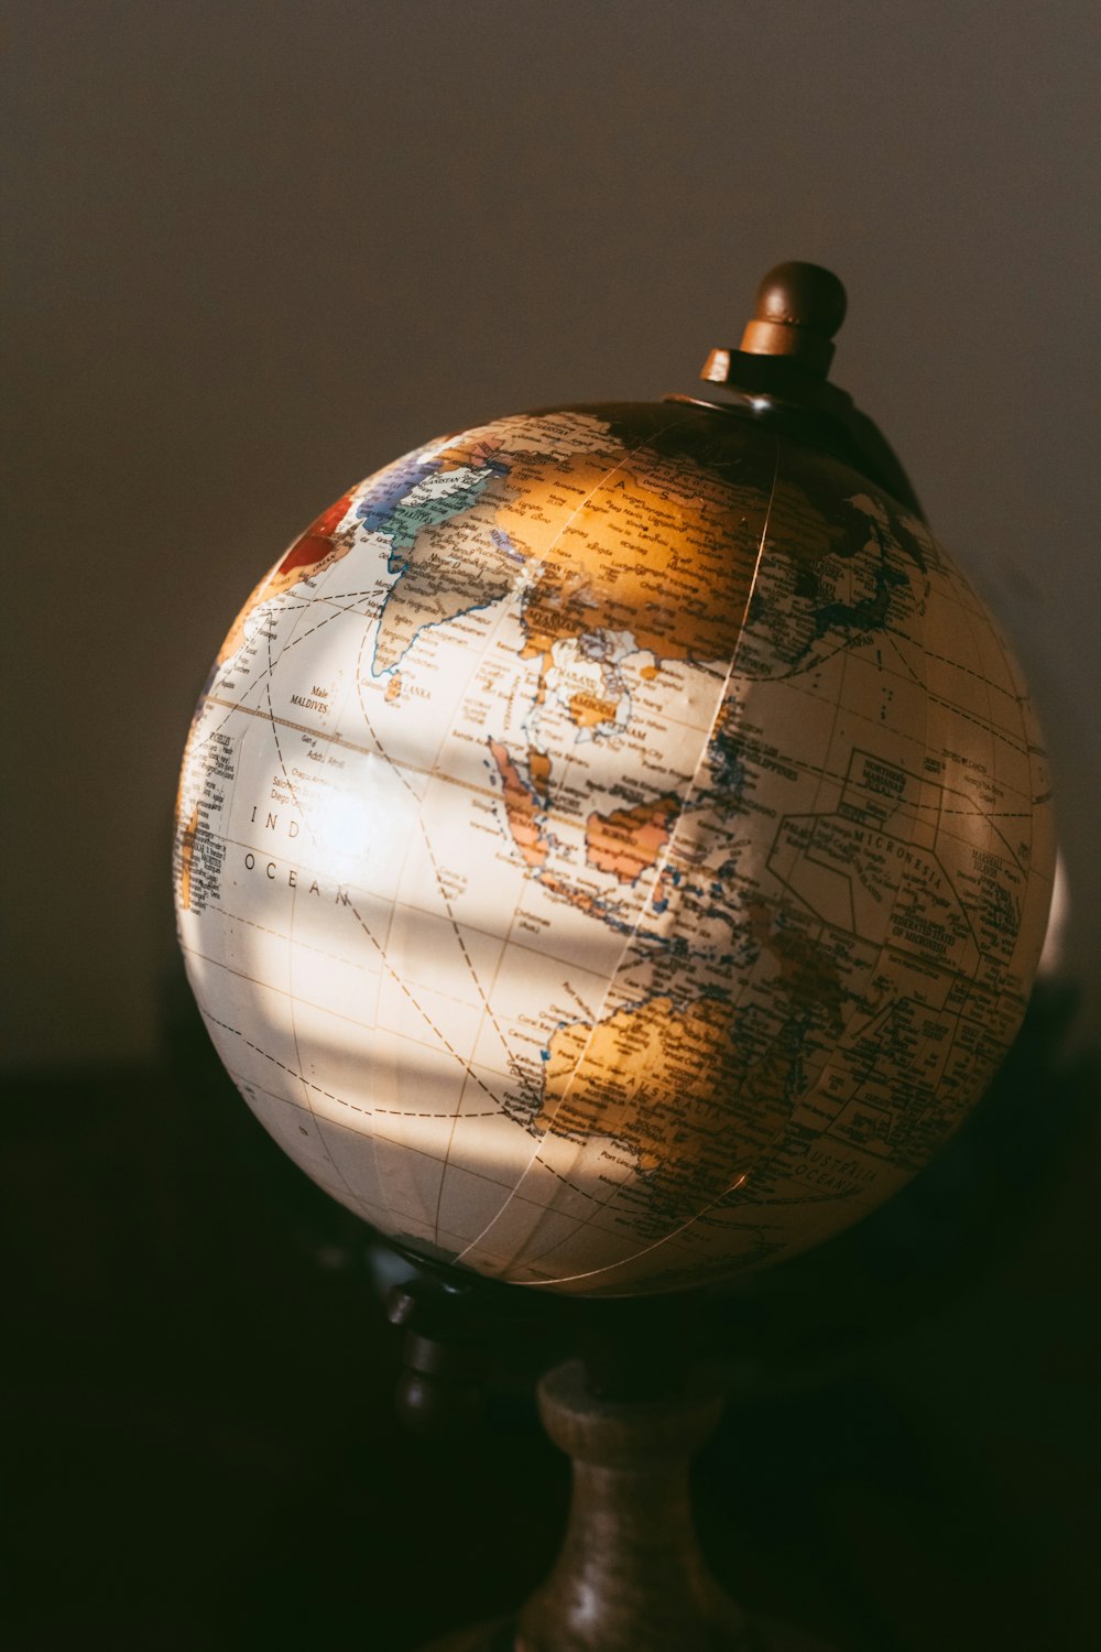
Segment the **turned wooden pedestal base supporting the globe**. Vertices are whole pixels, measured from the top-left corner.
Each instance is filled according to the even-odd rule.
[[[581,1361],[540,1383],[546,1432],[573,1460],[558,1561],[515,1617],[424,1652],[829,1652],[751,1622],[711,1578],[688,1497],[688,1464],[718,1422],[713,1394],[604,1401]]]

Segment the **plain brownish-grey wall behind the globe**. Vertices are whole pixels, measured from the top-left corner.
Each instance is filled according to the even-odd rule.
[[[5,990],[142,1057],[193,702],[267,563],[456,426],[688,388],[763,271],[985,586],[1096,950],[1093,0],[7,8]]]

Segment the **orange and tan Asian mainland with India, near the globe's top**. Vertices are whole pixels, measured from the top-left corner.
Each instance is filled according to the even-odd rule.
[[[436,463],[487,466],[494,453],[485,433],[457,434],[436,448]],[[766,525],[779,548],[791,535],[807,555],[830,547],[827,525],[799,489],[771,487],[771,468],[748,468],[733,481],[657,444],[551,458],[503,441],[502,458],[507,474],[494,474],[475,504],[418,532],[409,578],[386,605],[375,669],[396,664],[424,624],[517,588],[517,558],[530,567],[522,657],[541,662],[536,709],[555,643],[594,631],[629,633],[654,656],[647,676],[667,659],[730,661]],[[569,710],[581,727],[612,720],[611,699],[576,689]]]

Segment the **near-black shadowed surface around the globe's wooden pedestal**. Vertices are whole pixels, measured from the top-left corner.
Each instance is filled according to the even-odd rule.
[[[702,1543],[839,1652],[1096,1644],[1099,1087],[1066,1021],[1038,999],[881,1213],[702,1308],[735,1351]],[[368,1231],[187,1011],[158,1066],[5,1115],[7,1647],[404,1652],[523,1597],[568,1497],[523,1381],[464,1441],[403,1431]]]

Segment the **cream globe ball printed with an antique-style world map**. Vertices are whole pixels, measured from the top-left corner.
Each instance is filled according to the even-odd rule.
[[[180,781],[213,1041],[383,1232],[706,1282],[901,1186],[987,1084],[1053,833],[921,522],[690,405],[505,418],[352,489],[234,623]]]

